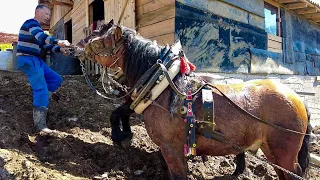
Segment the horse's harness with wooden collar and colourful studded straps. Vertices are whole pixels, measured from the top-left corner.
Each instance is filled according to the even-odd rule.
[[[182,58],[182,59],[181,59]],[[203,111],[205,116],[199,127],[200,133],[207,138],[212,137],[214,131],[214,105],[212,98],[212,90],[201,87],[195,93],[192,93],[194,86],[190,81],[187,82],[187,92],[181,93],[175,84],[171,81],[179,72],[181,61],[185,55],[182,51],[180,41],[169,47],[168,45],[162,50],[161,55],[156,64],[154,64],[142,77],[137,81],[134,89],[134,95],[131,96],[134,100],[130,108],[136,113],[141,114],[151,105],[156,98],[170,85],[172,89],[180,96],[186,97],[184,106],[180,113],[184,115],[185,122],[185,143],[184,154],[186,157],[196,156],[196,128],[197,124],[194,113],[193,97],[202,92]],[[167,70],[168,69],[168,70]]]

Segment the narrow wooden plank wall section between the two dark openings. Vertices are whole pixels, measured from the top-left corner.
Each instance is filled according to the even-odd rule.
[[[81,0],[72,9],[72,42],[73,44],[78,43],[85,37],[83,29],[86,27],[86,0]]]

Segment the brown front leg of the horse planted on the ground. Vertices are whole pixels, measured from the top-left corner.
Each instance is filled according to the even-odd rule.
[[[169,178],[172,180],[187,179],[187,163],[183,151],[176,150],[168,144],[163,144],[160,149],[169,169]]]

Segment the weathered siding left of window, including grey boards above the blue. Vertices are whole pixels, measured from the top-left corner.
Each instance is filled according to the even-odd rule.
[[[236,1],[234,1],[235,3]],[[241,1],[241,7],[260,7],[261,1]],[[175,34],[189,60],[200,71],[249,73],[250,48],[267,49],[261,13],[222,1],[176,2]]]

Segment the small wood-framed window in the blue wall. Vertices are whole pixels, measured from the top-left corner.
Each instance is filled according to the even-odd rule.
[[[274,5],[264,2],[265,30],[269,34],[281,36],[280,34],[280,9]]]

